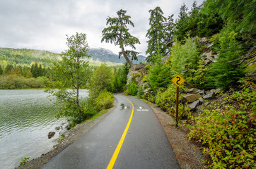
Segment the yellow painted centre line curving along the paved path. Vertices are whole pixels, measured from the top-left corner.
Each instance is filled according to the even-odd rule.
[[[121,97],[124,98],[124,99],[127,99],[127,98],[125,98],[123,96],[121,96]],[[127,101],[129,101],[129,99],[127,99]],[[132,101],[129,101],[129,102],[132,104]],[[114,154],[113,154],[113,156],[112,156],[112,158],[110,160],[110,163],[107,165],[107,169],[112,169],[114,167],[114,165],[115,165],[115,161],[117,160],[117,156],[118,156],[119,151],[120,151],[120,149],[122,147],[122,143],[124,142],[124,139],[125,139],[125,136],[127,134],[128,129],[129,129],[129,126],[131,124],[132,116],[133,115],[134,115],[134,104],[132,104],[132,114],[131,114],[131,116],[129,118],[129,121],[127,123],[127,126],[125,127],[124,132],[122,133],[122,137],[121,137],[121,139],[120,139],[120,141],[119,141],[119,143],[117,145],[117,148],[115,149],[115,152],[114,152]]]

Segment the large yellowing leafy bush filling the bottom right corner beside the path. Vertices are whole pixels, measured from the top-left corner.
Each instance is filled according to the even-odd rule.
[[[246,82],[240,92],[227,96],[227,105],[194,117],[189,139],[204,146],[211,168],[256,168],[256,92]]]

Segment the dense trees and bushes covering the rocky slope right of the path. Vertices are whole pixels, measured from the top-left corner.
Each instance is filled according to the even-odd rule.
[[[177,20],[159,6],[149,11],[148,63],[129,75],[124,94],[157,104],[175,117],[177,73],[190,84],[180,87],[179,119],[187,137],[208,155],[209,168],[256,168],[255,1],[183,4]],[[191,110],[183,100],[188,86],[221,89],[217,99]],[[216,104],[214,104],[216,103]]]

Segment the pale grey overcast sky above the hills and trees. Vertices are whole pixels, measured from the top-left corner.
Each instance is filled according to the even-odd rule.
[[[203,0],[197,0],[197,5]],[[145,55],[149,29],[149,10],[160,6],[165,17],[178,17],[180,6],[189,9],[192,0],[0,0],[0,47],[42,49],[61,53],[66,35],[86,33],[91,48],[110,49],[115,44],[101,43],[107,16],[116,17],[121,8],[130,15],[134,27],[130,33],[139,38],[136,51]]]

